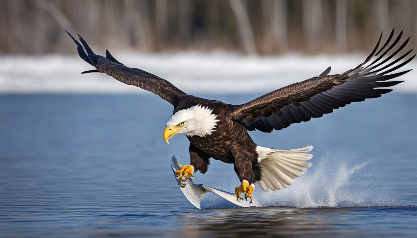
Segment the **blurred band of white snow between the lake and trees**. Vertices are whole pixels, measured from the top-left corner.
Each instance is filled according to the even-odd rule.
[[[113,55],[125,65],[140,68],[176,85],[186,93],[258,93],[276,90],[319,75],[343,73],[363,62],[366,55],[291,54],[274,57],[226,52]],[[417,68],[412,60],[401,70]],[[76,56],[0,56],[0,93],[145,93],[94,69]],[[396,92],[417,92],[417,70],[401,76]]]

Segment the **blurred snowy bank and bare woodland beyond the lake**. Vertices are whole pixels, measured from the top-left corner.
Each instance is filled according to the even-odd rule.
[[[266,93],[363,62],[381,31],[417,44],[415,0],[0,0],[0,93],[145,93],[77,58],[95,53],[187,93]],[[24,67],[23,67],[24,65]],[[414,61],[410,64],[416,65]],[[297,72],[297,73],[295,73]],[[417,73],[397,90],[417,90]],[[12,80],[13,79],[13,80]],[[16,80],[18,79],[18,80]],[[254,83],[256,79],[256,83]]]

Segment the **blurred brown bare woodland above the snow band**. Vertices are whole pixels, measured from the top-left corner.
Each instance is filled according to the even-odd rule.
[[[393,27],[417,35],[415,0],[0,0],[0,5],[3,54],[74,54],[64,29],[100,48],[260,55],[368,52],[379,33]]]

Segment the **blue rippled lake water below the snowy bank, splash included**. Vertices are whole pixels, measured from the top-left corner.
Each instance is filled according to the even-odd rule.
[[[244,103],[259,95],[197,95]],[[266,147],[314,145],[287,189],[260,208],[215,196],[198,210],[173,178],[188,140],[162,133],[172,106],[145,95],[0,95],[1,237],[384,236],[417,233],[417,95],[389,93],[273,133]],[[195,183],[233,192],[233,165]]]

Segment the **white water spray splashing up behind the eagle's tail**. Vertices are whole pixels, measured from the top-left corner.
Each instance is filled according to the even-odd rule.
[[[371,207],[397,206],[392,195],[377,195],[368,189],[367,181],[361,181],[362,170],[368,162],[348,165],[349,159],[335,163],[329,155],[320,158],[289,188],[276,192],[261,193],[256,196],[262,206],[279,207]],[[362,171],[363,173],[358,173]],[[356,176],[354,176],[356,175]]]

